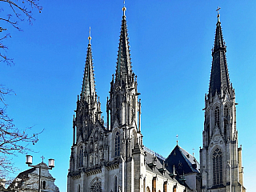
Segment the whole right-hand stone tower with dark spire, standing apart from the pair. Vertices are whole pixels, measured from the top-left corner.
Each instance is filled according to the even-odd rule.
[[[242,146],[238,146],[236,129],[237,103],[230,83],[219,14],[212,57],[200,150],[202,192],[243,192],[246,189],[243,186]]]

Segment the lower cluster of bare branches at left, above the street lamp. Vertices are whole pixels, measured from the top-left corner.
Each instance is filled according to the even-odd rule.
[[[0,178],[6,178],[7,182],[10,181],[9,174],[17,170],[11,156],[31,151],[28,144],[38,142],[38,134],[42,133],[28,134],[31,127],[20,130],[14,125],[13,119],[6,114],[5,96],[11,93],[14,92],[0,85]]]

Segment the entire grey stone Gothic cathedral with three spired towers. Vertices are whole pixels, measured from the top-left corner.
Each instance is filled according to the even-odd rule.
[[[106,122],[94,84],[91,37],[73,118],[68,192],[244,192],[236,102],[218,14],[200,163],[178,145],[167,158],[142,142],[141,100],[130,62],[126,7],[118,61],[106,100]]]

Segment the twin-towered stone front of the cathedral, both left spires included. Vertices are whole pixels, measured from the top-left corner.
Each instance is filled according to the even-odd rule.
[[[137,77],[130,62],[125,6],[122,11],[118,62],[110,82],[110,98],[106,101],[106,126],[95,91],[89,36],[82,92],[73,120],[74,137],[67,177],[69,192],[141,191],[142,173],[145,177],[146,172],[140,128],[141,103],[138,102]]]

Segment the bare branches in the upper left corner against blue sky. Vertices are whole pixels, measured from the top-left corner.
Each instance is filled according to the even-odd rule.
[[[39,6],[39,0],[0,0],[0,62],[6,62],[8,65],[14,64],[13,58],[6,56],[6,46],[3,42],[10,38],[8,27],[14,27],[22,30],[18,26],[19,22],[27,20],[30,24],[34,21],[32,10],[42,11]]]

